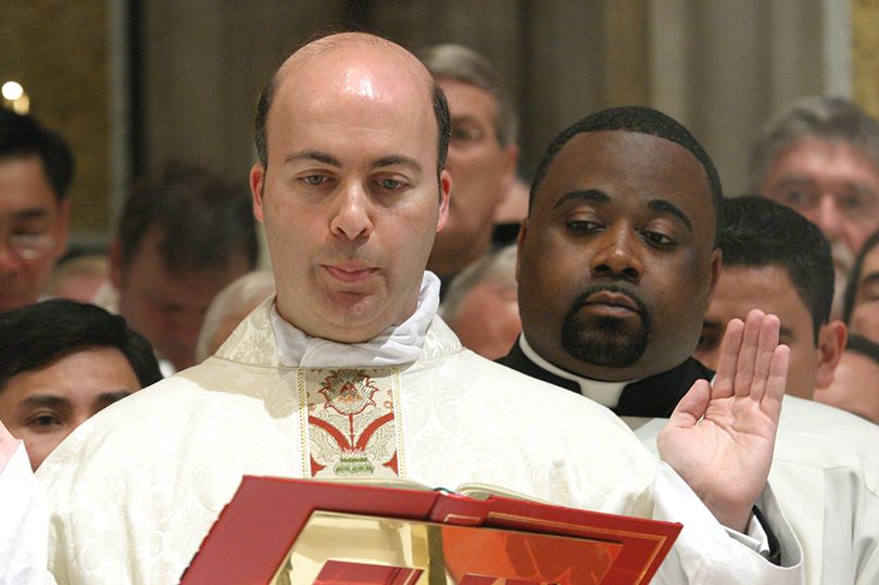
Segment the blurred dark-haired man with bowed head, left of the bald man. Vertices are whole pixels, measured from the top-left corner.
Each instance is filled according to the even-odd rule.
[[[173,166],[131,193],[110,247],[111,278],[120,315],[150,341],[165,376],[196,364],[211,301],[258,256],[246,189]]]

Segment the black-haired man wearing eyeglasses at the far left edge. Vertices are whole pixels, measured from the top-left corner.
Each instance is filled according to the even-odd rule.
[[[0,110],[0,311],[37,302],[67,250],[73,168],[58,133]]]

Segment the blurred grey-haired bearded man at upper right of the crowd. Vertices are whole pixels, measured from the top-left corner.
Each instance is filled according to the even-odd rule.
[[[879,229],[879,120],[843,98],[804,98],[761,129],[752,191],[793,208],[830,241],[834,317],[854,258]]]

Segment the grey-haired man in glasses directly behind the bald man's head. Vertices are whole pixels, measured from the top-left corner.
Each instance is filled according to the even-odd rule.
[[[452,277],[492,250],[494,209],[515,179],[519,149],[516,114],[482,55],[439,44],[420,55],[449,100],[452,136],[445,169],[452,176],[449,222],[437,233],[427,269],[444,296]]]

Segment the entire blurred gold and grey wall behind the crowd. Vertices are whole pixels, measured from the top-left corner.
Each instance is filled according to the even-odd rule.
[[[34,114],[72,143],[80,234],[106,237],[135,169],[171,157],[243,181],[266,77],[291,47],[351,21],[412,48],[461,42],[492,60],[522,113],[526,173],[564,126],[642,103],[688,125],[737,194],[768,114],[840,92],[821,47],[834,42],[828,5],[851,15],[850,44],[833,49],[851,62],[843,93],[879,116],[879,0],[3,0],[0,82],[22,82]],[[113,39],[131,38],[113,15],[126,13],[137,68],[123,63],[120,77]],[[127,72],[134,117],[114,101]]]

